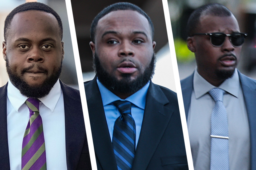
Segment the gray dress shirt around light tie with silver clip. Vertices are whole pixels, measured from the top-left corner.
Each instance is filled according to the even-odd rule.
[[[216,88],[197,71],[193,78],[193,92],[187,128],[195,170],[210,169],[211,112],[215,105],[208,91]],[[237,70],[218,88],[225,90],[223,104],[227,110],[229,127],[230,170],[250,169],[250,129]]]

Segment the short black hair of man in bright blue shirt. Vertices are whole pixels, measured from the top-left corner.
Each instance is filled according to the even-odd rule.
[[[93,41],[93,43],[95,43],[95,31],[96,31],[96,27],[98,25],[98,21],[105,15],[107,15],[108,13],[112,12],[112,11],[118,11],[118,10],[132,10],[132,11],[137,11],[139,12],[141,15],[145,16],[145,18],[149,21],[149,24],[151,26],[151,31],[152,31],[152,40],[154,37],[154,25],[151,21],[151,19],[149,18],[149,16],[137,5],[134,5],[132,3],[129,2],[118,2],[118,3],[114,3],[106,8],[104,8],[93,20],[93,22],[91,23],[91,41]]]

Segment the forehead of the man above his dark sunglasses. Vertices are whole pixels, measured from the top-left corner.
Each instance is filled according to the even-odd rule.
[[[234,15],[231,16],[213,16],[203,15],[200,17],[198,27],[200,33],[210,32],[240,32],[239,25]]]

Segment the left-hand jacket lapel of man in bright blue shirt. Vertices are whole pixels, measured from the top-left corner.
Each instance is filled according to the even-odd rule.
[[[99,164],[104,170],[117,170],[117,163],[115,161],[96,77],[86,84],[86,101],[90,117],[94,151]]]

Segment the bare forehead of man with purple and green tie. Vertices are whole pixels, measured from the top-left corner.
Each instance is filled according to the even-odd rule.
[[[10,34],[7,39],[33,37],[41,33],[61,38],[57,19],[53,14],[44,11],[29,10],[15,14],[9,29]]]

